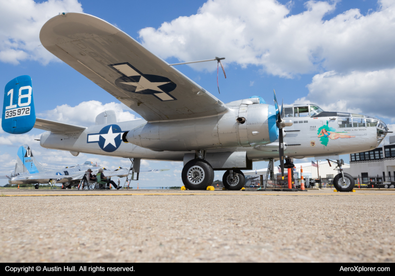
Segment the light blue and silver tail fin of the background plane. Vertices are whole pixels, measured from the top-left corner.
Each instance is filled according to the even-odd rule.
[[[17,164],[15,165],[15,173],[37,174],[44,171],[44,167],[33,156],[33,152],[29,145],[22,145],[18,149]]]

